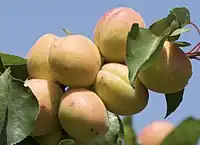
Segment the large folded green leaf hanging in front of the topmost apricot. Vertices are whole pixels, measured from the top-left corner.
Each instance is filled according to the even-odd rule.
[[[161,36],[156,36],[148,29],[139,28],[137,24],[132,25],[126,45],[126,64],[132,85],[140,69],[146,69],[159,55],[172,29],[173,27],[168,27]]]

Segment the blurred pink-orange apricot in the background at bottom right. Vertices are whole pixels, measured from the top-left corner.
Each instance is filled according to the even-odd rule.
[[[175,126],[168,121],[157,120],[142,129],[138,140],[142,145],[160,145],[174,128]]]

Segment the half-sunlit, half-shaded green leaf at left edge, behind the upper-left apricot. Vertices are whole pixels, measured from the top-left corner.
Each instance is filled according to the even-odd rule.
[[[16,56],[16,55],[6,54],[6,53],[0,53],[0,57],[4,66],[6,68],[8,67],[11,68],[11,75],[13,77],[23,80],[23,81],[26,80],[26,78],[28,77],[26,59]]]

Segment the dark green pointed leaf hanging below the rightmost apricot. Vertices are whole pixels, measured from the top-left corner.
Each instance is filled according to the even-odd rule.
[[[176,93],[165,94],[167,102],[167,113],[165,118],[167,118],[172,112],[174,112],[183,100],[184,89]]]

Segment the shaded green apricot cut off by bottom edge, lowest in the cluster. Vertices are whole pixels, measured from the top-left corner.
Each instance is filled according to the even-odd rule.
[[[34,137],[40,145],[58,145],[61,140],[61,131],[51,132],[42,136]]]

